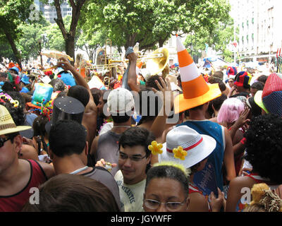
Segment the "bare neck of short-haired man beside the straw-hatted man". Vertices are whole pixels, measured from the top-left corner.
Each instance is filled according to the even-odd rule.
[[[55,157],[53,160],[53,165],[56,174],[70,174],[77,169],[86,167],[86,164],[78,157],[78,155],[71,155],[66,157]],[[90,172],[92,167],[79,172],[78,174],[83,174],[85,172]]]

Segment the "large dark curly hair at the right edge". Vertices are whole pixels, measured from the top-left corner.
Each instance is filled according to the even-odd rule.
[[[275,114],[255,117],[244,136],[247,139],[245,159],[252,165],[253,172],[282,184],[281,117]]]

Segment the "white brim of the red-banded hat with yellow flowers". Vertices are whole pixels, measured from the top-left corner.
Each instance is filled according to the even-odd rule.
[[[214,151],[214,148],[216,148],[216,140],[214,138],[203,134],[201,134],[201,136],[203,141],[195,148],[187,151],[185,160],[175,158],[173,153],[169,153],[166,150],[166,143],[164,143],[162,148],[163,153],[159,154],[159,162],[173,161],[184,165],[186,168],[190,168],[198,162],[201,162]]]

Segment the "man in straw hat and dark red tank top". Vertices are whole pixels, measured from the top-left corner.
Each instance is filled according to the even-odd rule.
[[[19,159],[23,145],[19,132],[30,128],[16,126],[8,109],[0,105],[0,212],[22,210],[35,188],[54,176],[47,163]]]

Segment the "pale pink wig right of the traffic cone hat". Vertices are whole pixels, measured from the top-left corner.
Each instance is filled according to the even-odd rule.
[[[243,112],[245,105],[238,98],[228,98],[224,100],[219,114],[217,115],[217,121],[219,123],[233,123],[239,118],[241,112]]]

